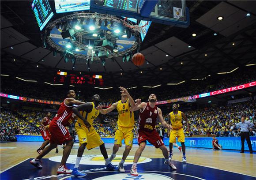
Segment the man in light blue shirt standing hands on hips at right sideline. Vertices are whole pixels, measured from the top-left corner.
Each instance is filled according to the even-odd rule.
[[[242,142],[242,148],[240,153],[245,152],[245,139],[248,144],[248,148],[250,150],[250,154],[252,154],[252,144],[249,136],[249,128],[253,127],[254,124],[252,124],[249,121],[245,121],[245,118],[241,118],[241,122],[237,123],[237,127],[241,128],[241,142]]]

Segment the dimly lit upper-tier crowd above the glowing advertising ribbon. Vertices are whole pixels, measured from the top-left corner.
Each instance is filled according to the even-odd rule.
[[[186,81],[176,86],[162,85],[154,89],[138,87],[129,90],[129,92],[132,97],[142,98],[143,100],[147,100],[149,94],[155,93],[158,97],[158,101],[201,94],[255,81],[256,71],[254,68],[255,67],[246,67],[246,69],[238,69],[233,73],[225,75],[207,75],[206,79]],[[66,97],[66,92],[71,88],[70,86],[66,87],[68,88],[66,89],[63,86],[24,82],[18,79],[9,81],[8,78],[9,77],[4,77],[1,79],[1,93],[22,97],[63,101]],[[94,94],[99,94],[104,102],[113,103],[120,100],[120,90],[118,88],[103,91],[88,86],[77,86],[74,87],[74,90],[76,91],[77,98],[82,101],[90,101],[90,97]],[[38,92],[40,92],[40,94],[38,94]]]

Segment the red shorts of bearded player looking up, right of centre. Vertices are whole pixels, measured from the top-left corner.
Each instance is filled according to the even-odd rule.
[[[152,145],[154,145],[155,148],[158,148],[158,147],[164,145],[164,142],[160,138],[157,131],[155,131],[155,130],[153,130],[153,131],[139,130],[138,144],[140,144],[141,142],[146,142],[146,140],[148,142],[150,142]]]

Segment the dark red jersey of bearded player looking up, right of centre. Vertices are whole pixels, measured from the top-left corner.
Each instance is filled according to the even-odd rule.
[[[153,131],[155,129],[157,117],[158,108],[156,106],[154,106],[154,108],[151,108],[149,103],[147,102],[145,109],[140,109],[139,130]]]

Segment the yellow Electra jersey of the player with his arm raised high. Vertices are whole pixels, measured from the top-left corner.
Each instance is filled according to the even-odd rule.
[[[130,111],[129,99],[124,103],[122,100],[117,103],[118,120],[117,125],[120,127],[134,126],[134,113]]]

